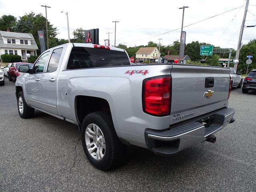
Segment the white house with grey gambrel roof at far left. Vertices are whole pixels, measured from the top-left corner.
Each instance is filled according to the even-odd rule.
[[[22,60],[27,60],[26,54],[36,55],[38,46],[30,33],[17,33],[0,31],[0,55],[20,55]]]

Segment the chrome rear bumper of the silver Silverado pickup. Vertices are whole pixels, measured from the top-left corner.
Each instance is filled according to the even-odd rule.
[[[204,119],[209,119],[208,124],[197,120],[164,131],[148,129],[145,131],[146,144],[156,154],[175,154],[204,142],[212,134],[234,122],[234,113],[234,109],[226,108],[204,117]]]

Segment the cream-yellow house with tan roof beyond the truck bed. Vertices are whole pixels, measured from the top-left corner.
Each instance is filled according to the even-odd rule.
[[[156,59],[159,59],[160,52],[157,47],[141,47],[136,52],[136,61],[143,60],[146,63],[154,63]]]

